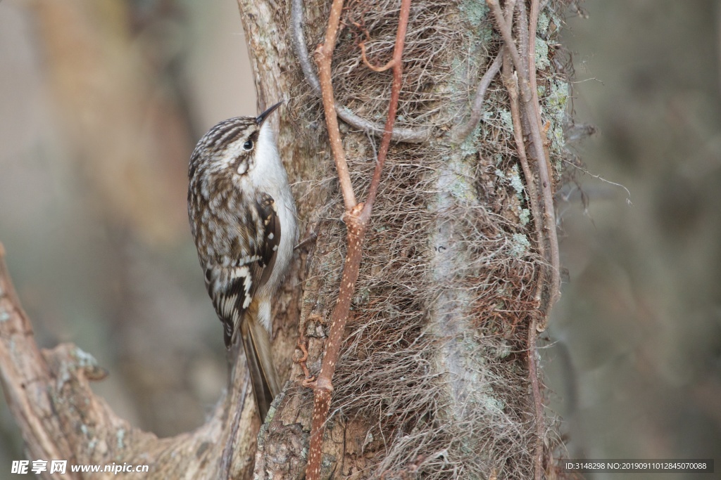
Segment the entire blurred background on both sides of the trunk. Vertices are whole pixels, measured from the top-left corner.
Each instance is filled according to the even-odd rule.
[[[721,461],[721,4],[581,6],[564,42],[597,132],[559,199],[549,402],[572,458]],[[92,353],[133,425],[197,427],[226,365],[187,160],[255,113],[235,1],[0,1],[0,58],[0,241],[38,343]],[[0,399],[0,479],[19,458]]]

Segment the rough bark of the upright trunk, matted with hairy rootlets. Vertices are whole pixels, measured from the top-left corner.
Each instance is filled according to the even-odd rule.
[[[506,2],[505,6],[512,3]],[[544,8],[548,6],[548,2],[541,3]],[[538,8],[539,2],[518,1],[517,4],[521,5],[519,9],[524,9],[517,14],[523,22],[528,22],[526,8],[535,12],[534,19],[538,18],[538,10],[534,10],[533,5]],[[340,191],[327,181],[335,176],[335,171],[324,140],[324,124],[319,118],[322,110],[314,94],[316,82],[308,78],[307,72],[305,77],[302,75],[298,57],[292,51],[292,35],[288,33],[287,25],[290,7],[276,3],[259,6],[242,0],[239,5],[247,36],[251,39],[249,48],[255,59],[257,90],[265,95],[277,92],[278,98],[289,100],[292,121],[284,126],[288,131],[284,141],[292,148],[286,158],[293,158],[294,166],[301,166],[296,167],[298,173],[302,172],[298,180],[307,182],[303,189],[296,190],[297,197],[304,199],[301,217],[316,225],[319,235],[304,284],[299,326],[305,337],[303,340],[308,343],[311,373],[318,373],[346,249],[345,228],[334,220],[340,219],[343,212]],[[366,5],[367,9],[373,7],[377,10],[386,8],[384,21],[389,27],[384,33],[393,32],[397,5],[382,1]],[[304,3],[306,25],[301,34],[311,51],[323,42],[328,8],[329,4]],[[486,55],[481,53],[492,45],[492,35],[484,37],[492,31],[483,20],[488,18],[487,12],[483,6],[465,2],[448,2],[438,8],[443,10],[438,14],[441,27],[436,32],[458,22],[450,28],[456,32],[468,29],[464,35],[475,37],[475,40],[483,38],[482,45],[475,44],[472,49],[479,55],[478,63],[472,60],[468,67],[469,81],[479,81],[481,75],[477,72],[483,73],[484,65],[491,63],[491,58],[484,60]],[[553,8],[557,9],[559,5],[554,4]],[[343,17],[345,30],[339,35],[339,53],[334,60],[334,65],[342,65],[335,67],[333,72],[336,101],[340,104],[348,101],[353,104],[352,110],[372,117],[382,114],[382,108],[371,102],[364,104],[359,100],[363,95],[358,94],[368,81],[363,73],[358,73],[361,63],[358,42],[370,39],[354,31],[353,25],[361,24],[361,30],[366,26],[368,30],[372,30],[371,25],[375,27],[369,37],[382,29],[377,23],[373,24],[377,17],[367,12],[366,18],[372,17],[372,20],[366,24],[363,23],[366,18],[353,16],[363,10],[358,4],[350,3],[348,9],[350,13]],[[423,16],[430,9],[433,9],[430,4],[414,2],[410,35],[413,35],[414,21],[417,29],[428,27],[423,24]],[[545,24],[540,30],[545,39],[549,35],[549,22],[555,22],[555,29],[561,25],[554,17],[556,12],[552,9],[542,13]],[[470,24],[464,22],[469,18]],[[513,9],[508,24],[516,25],[512,19]],[[523,22],[518,24],[523,25]],[[474,27],[477,28],[475,32]],[[529,29],[526,24],[525,29],[525,37],[523,31],[518,35],[528,42],[528,30],[531,30],[535,42],[536,28]],[[500,37],[500,32],[498,34]],[[353,35],[360,36],[353,39]],[[296,41],[298,37],[296,32]],[[392,42],[389,35],[383,40],[385,47],[376,49],[377,60],[372,61],[376,65],[382,65],[388,59]],[[557,281],[557,268],[555,271],[547,269],[542,252],[544,243],[547,242],[551,250],[554,245],[554,240],[549,237],[555,223],[548,212],[553,212],[549,191],[553,191],[558,181],[562,159],[565,96],[554,90],[562,84],[562,75],[554,78],[559,83],[553,83],[548,76],[539,80],[546,89],[541,99],[542,113],[534,114],[532,109],[524,112],[526,128],[536,121],[536,116],[542,115],[542,121],[547,123],[540,124],[540,128],[545,129],[542,135],[547,135],[548,139],[538,137],[539,126],[536,126],[533,140],[526,137],[529,142],[526,148],[534,148],[528,155],[536,165],[528,170],[533,173],[526,177],[526,185],[519,187],[524,182],[513,136],[497,135],[497,131],[503,129],[492,118],[497,114],[508,114],[508,103],[501,104],[503,109],[499,108],[499,112],[486,115],[485,125],[481,127],[486,131],[476,130],[470,140],[460,146],[454,144],[448,140],[444,128],[465,118],[466,99],[475,89],[470,86],[459,94],[454,91],[458,77],[444,73],[459,68],[459,60],[465,61],[468,52],[451,42],[448,55],[436,55],[437,52],[418,47],[420,40],[417,37],[410,42],[407,61],[417,63],[418,58],[414,55],[419,51],[427,53],[428,70],[425,73],[433,84],[430,89],[444,94],[434,97],[435,104],[429,105],[433,103],[430,101],[424,105],[425,111],[423,107],[417,109],[417,114],[426,114],[432,117],[430,120],[427,117],[425,122],[414,123],[410,115],[404,115],[402,119],[402,128],[428,130],[435,127],[432,138],[420,147],[397,144],[389,155],[390,178],[384,178],[385,188],[379,194],[379,214],[374,214],[371,219],[371,225],[375,225],[371,230],[375,234],[369,233],[364,250],[361,279],[348,319],[346,350],[341,355],[337,379],[333,382],[334,400],[324,438],[322,477],[404,478],[428,474],[429,478],[466,478],[482,473],[523,478],[533,471],[533,475],[540,478],[544,469],[550,471],[553,468],[549,460],[553,441],[549,440],[547,420],[542,409],[539,410],[542,393],[539,391],[539,373],[535,369],[536,334],[533,330],[536,325],[545,325],[549,305],[556,296],[550,284]],[[440,39],[438,43],[443,45]],[[537,43],[535,47],[534,43],[519,47],[523,62],[528,63],[526,59],[532,58],[531,68],[535,70],[536,55],[539,54],[529,55],[528,50],[539,52],[540,49],[538,61],[543,66],[539,70],[558,75],[562,68],[560,63],[552,63],[554,54],[549,52],[549,43],[540,37]],[[379,55],[379,51],[386,56]],[[291,58],[285,55],[291,55]],[[410,76],[418,75],[418,69],[409,70]],[[528,76],[528,72],[519,76],[523,84],[518,88],[525,89],[523,93],[530,105],[533,99],[526,83],[532,79],[531,85],[535,85],[536,75],[530,75],[531,79]],[[376,75],[375,79],[386,85],[378,100],[378,104],[385,107],[389,77]],[[411,103],[413,93],[417,94],[412,89],[418,83],[410,84],[412,86],[407,86],[402,95],[402,102]],[[553,105],[549,101],[552,90],[557,94]],[[494,101],[497,100],[497,87],[495,95]],[[266,98],[265,103],[274,100]],[[499,106],[492,102],[487,111],[494,107]],[[339,112],[342,110],[341,107]],[[403,113],[407,114],[409,110],[407,108]],[[513,131],[510,117],[508,114],[506,132]],[[373,120],[377,124],[382,123],[383,118],[376,115]],[[351,127],[344,134],[343,146],[348,155],[353,188],[356,192],[364,192],[376,148],[371,132],[358,132]],[[285,138],[284,135],[281,133],[281,138]],[[530,133],[526,135],[530,136]],[[515,166],[497,160],[496,156],[513,158]],[[442,160],[438,161],[439,158]],[[537,161],[539,158],[541,162]],[[541,171],[539,163],[549,168]],[[499,173],[497,166],[504,166],[503,172]],[[543,173],[548,171],[550,173],[544,178]],[[529,188],[528,182],[536,182],[539,188]],[[399,183],[402,185],[397,185]],[[539,198],[531,201],[529,195],[533,192],[535,196],[536,191]],[[540,197],[541,192],[544,198]],[[362,194],[359,196],[363,198]],[[521,205],[530,207],[531,203],[545,208],[545,212],[541,212],[536,207],[530,215],[538,215],[536,222],[546,229],[547,236],[537,238],[536,242],[531,240],[528,246],[528,238],[535,237],[534,224],[528,222],[528,210],[524,213]],[[422,212],[418,207],[422,207]],[[526,219],[522,218],[524,214]],[[498,215],[503,218],[498,219]],[[399,217],[402,218],[400,222]],[[412,227],[408,228],[408,224]],[[405,243],[393,243],[389,240],[393,235],[404,237]],[[503,243],[506,243],[505,247],[501,245]],[[501,261],[488,258],[495,255],[500,256]],[[398,266],[403,262],[405,266]],[[404,273],[408,273],[405,284],[397,275],[404,268],[407,269]],[[549,277],[554,280],[549,281]],[[405,312],[397,314],[394,309],[398,308]],[[418,313],[417,317],[414,313]],[[387,322],[385,327],[379,327],[382,322]],[[400,330],[403,331],[399,333]],[[385,338],[394,335],[397,343],[384,343]],[[409,344],[417,348],[408,348]],[[527,356],[516,353],[526,350],[529,345]],[[410,373],[404,376],[403,371]],[[379,376],[386,376],[386,379]],[[305,450],[298,452],[290,446],[279,446],[297,445],[299,432],[304,433],[302,445],[307,445],[305,433],[310,427],[311,392],[299,386],[303,379],[301,368],[293,368],[291,379],[296,381],[298,388],[288,391],[276,417],[264,426],[261,437],[265,440],[257,453],[257,465],[262,466],[260,470],[274,472],[270,478],[301,476],[305,465]],[[395,387],[392,382],[396,382]],[[388,398],[372,399],[374,395],[387,395]],[[411,395],[416,397],[415,403],[404,398]],[[394,410],[411,405],[421,412]],[[387,420],[389,415],[396,420]],[[420,426],[421,422],[425,425]],[[482,433],[464,434],[484,429]],[[424,436],[433,439],[423,439]],[[464,450],[466,454],[461,453]],[[283,455],[278,455],[278,451],[283,451]],[[474,465],[469,466],[472,463]]]

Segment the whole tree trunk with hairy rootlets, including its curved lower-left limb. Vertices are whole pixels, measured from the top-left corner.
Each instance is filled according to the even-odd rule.
[[[526,18],[532,3],[519,0],[516,17]],[[451,135],[471,115],[480,78],[499,51],[501,37],[485,2],[412,2],[396,129],[417,137],[394,142],[386,160],[333,380],[322,478],[526,479],[554,469],[554,435],[539,415],[534,348],[536,324],[544,325],[554,299],[544,255],[552,240],[538,235],[539,225],[554,229],[555,222],[532,207],[543,200],[531,198],[529,181],[553,191],[567,157],[569,87],[561,54],[551,47],[562,6],[552,1],[541,10],[534,55],[519,42],[521,54],[535,60],[547,136],[546,158],[529,153],[531,175],[525,176],[500,76],[477,112],[479,126],[460,141]],[[239,7],[259,107],[286,101],[278,148],[295,182],[300,223],[317,233],[314,246],[300,250],[275,307],[273,348],[289,381],[257,448],[242,356],[229,394],[203,427],[158,439],[92,394],[88,381],[100,375],[91,356],[71,345],[37,349],[3,267],[1,379],[31,458],[149,464],[147,478],[154,479],[304,475],[313,391],[301,386],[304,372],[291,358],[300,358],[300,340],[309,371],[318,373],[345,258],[344,209],[322,104],[293,45],[291,0],[239,0]],[[397,1],[348,2],[332,64],[340,116],[352,112],[380,125],[380,132],[392,76],[368,68],[358,42],[365,42],[369,63],[384,65],[398,8]],[[296,33],[308,50],[323,41],[328,9],[326,1],[302,6],[306,22]],[[514,35],[523,38],[518,24]],[[523,128],[535,121],[524,114]],[[378,131],[350,123],[342,124],[342,142],[363,198]],[[531,152],[533,140],[524,140]],[[550,184],[541,185],[536,176],[547,163]]]

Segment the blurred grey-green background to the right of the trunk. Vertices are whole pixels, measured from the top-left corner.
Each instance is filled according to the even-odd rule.
[[[549,397],[571,458],[716,457],[719,478],[721,2],[582,6],[564,42],[576,122],[598,132],[575,151],[625,189],[580,174],[587,207],[559,202]]]

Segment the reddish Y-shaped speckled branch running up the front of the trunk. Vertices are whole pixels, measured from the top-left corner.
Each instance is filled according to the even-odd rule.
[[[384,128],[383,139],[381,140],[381,148],[379,150],[376,168],[373,171],[371,186],[368,189],[368,198],[365,204],[355,204],[355,196],[353,195],[353,187],[350,186],[350,178],[348,186],[345,186],[341,178],[341,189],[343,190],[343,198],[345,201],[345,221],[348,229],[348,252],[345,255],[345,266],[340,280],[340,288],[338,291],[338,299],[331,314],[330,331],[328,339],[325,343],[325,352],[323,356],[322,366],[317,381],[314,383],[314,405],[313,417],[311,422],[311,439],[308,453],[308,466],[306,467],[306,479],[319,480],[320,466],[323,453],[323,434],[325,432],[325,423],[330,411],[330,401],[332,399],[333,384],[332,379],[335,373],[335,366],[340,353],[340,346],[345,335],[345,324],[348,321],[348,313],[350,312],[350,302],[355,291],[355,281],[358,280],[358,271],[361,266],[361,257],[363,255],[363,240],[366,237],[368,222],[371,218],[373,210],[373,202],[376,199],[378,187],[381,181],[381,173],[390,148],[393,124],[396,119],[398,109],[398,100],[400,89],[403,81],[403,47],[405,34],[408,26],[408,17],[410,16],[411,0],[402,0],[399,14],[398,30],[396,34],[396,43],[393,50],[393,58],[390,63],[393,67],[393,83],[391,87],[391,99],[389,101],[388,117]],[[340,142],[340,131],[338,130],[337,119],[335,118],[335,106],[333,103],[332,81],[330,78],[330,63],[332,60],[332,47],[335,43],[335,35],[337,33],[338,22],[340,22],[340,12],[342,11],[342,0],[336,0],[331,6],[331,16],[328,22],[326,38],[324,45],[319,47],[318,67],[320,74],[320,86],[322,90],[323,105],[326,109],[326,121],[328,133],[331,137],[332,145],[335,142],[337,147],[333,153],[338,166],[338,175],[341,175],[340,165],[345,168],[343,171],[348,175],[348,166],[345,163],[345,153],[342,151]],[[331,41],[332,39],[332,41]],[[330,109],[329,109],[330,108]],[[339,161],[342,159],[342,162]],[[349,191],[347,192],[346,189]],[[348,199],[353,198],[353,204]]]

